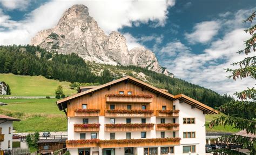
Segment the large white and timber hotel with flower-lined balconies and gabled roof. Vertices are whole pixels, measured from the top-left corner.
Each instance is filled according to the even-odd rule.
[[[217,113],[130,76],[80,87],[57,105],[72,155],[205,154],[205,114]]]

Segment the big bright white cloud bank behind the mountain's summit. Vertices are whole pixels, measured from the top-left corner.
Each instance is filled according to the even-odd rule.
[[[11,29],[10,26],[6,26],[6,28],[9,29],[8,31],[0,31],[0,44],[30,43],[30,39],[35,36],[38,31],[49,29],[56,25],[63,12],[73,4],[86,5],[89,8],[90,16],[96,19],[100,28],[106,33],[110,33],[111,31],[117,31],[123,26],[132,26],[132,23],[147,23],[153,21],[159,26],[163,26],[167,18],[167,8],[173,6],[175,1],[52,0],[30,12],[23,21],[9,24]],[[5,6],[11,8],[11,4],[6,4]],[[5,23],[11,23],[10,19],[6,19],[5,17]]]

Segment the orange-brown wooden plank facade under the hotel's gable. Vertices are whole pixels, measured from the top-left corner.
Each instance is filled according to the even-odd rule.
[[[152,98],[148,99],[147,102],[128,102],[126,98],[122,98],[123,102],[114,103],[107,102],[106,95],[119,94],[119,91],[124,91],[124,94],[127,95],[128,92],[132,92],[133,95],[152,95]],[[119,98],[120,99],[120,98]],[[144,98],[145,99],[145,98]],[[149,99],[150,102],[149,103]],[[125,101],[126,100],[126,101]],[[142,105],[146,105],[146,110],[154,110],[152,116],[156,116],[156,111],[161,110],[162,106],[166,106],[166,110],[172,110],[172,100],[167,99],[163,96],[159,96],[154,92],[149,90],[144,90],[141,86],[135,85],[130,82],[120,82],[118,84],[112,85],[111,87],[106,87],[105,89],[98,90],[96,92],[80,96],[70,100],[68,103],[67,116],[75,117],[78,114],[75,112],[76,109],[81,109],[82,104],[87,104],[87,109],[100,109],[99,116],[112,116],[112,113],[106,114],[106,110],[110,109],[110,105],[114,104],[115,109],[126,110],[127,105],[132,106],[132,110],[141,110]],[[116,115],[116,113],[114,113]],[[83,115],[84,116],[84,115]],[[140,116],[141,117],[141,116]]]

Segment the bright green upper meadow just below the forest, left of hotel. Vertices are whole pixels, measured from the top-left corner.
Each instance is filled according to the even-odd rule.
[[[11,96],[55,96],[58,85],[63,86],[65,95],[72,95],[76,91],[69,89],[70,82],[59,82],[43,76],[17,76],[11,73],[0,74],[0,81],[11,87]]]

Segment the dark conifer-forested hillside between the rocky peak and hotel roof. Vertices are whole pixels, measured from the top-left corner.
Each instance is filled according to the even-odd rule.
[[[75,53],[70,55],[50,53],[38,46],[31,45],[0,46],[0,73],[10,72],[15,75],[42,75],[48,79],[71,83],[100,84],[130,75],[156,87],[167,89],[173,95],[183,93],[212,107],[220,106],[232,100],[231,97],[221,96],[210,89],[145,68],[85,63]]]

